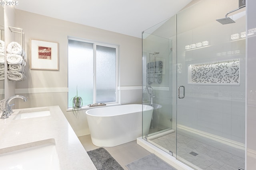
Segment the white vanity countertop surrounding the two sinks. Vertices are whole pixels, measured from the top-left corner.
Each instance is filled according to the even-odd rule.
[[[51,115],[14,120],[21,110],[43,108],[49,108]],[[0,149],[54,139],[60,170],[96,170],[59,106],[14,109],[13,111],[9,118],[0,119]]]

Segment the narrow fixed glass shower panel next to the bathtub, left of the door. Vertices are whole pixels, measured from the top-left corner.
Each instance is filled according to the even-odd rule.
[[[176,85],[172,83],[173,78],[176,78],[173,75],[173,70],[176,70],[176,64],[173,63],[173,43],[176,42],[176,36],[171,37],[164,33],[175,20],[176,18],[168,19],[142,32],[142,104],[154,107],[150,129],[142,135],[148,142],[170,153],[176,152],[176,142],[170,143],[173,144],[172,149],[166,150],[154,140],[158,140],[159,136],[172,134],[172,139],[176,141],[176,124],[173,122],[176,114],[172,114],[176,108],[173,106],[176,100],[173,99],[172,92],[176,89]],[[176,34],[175,27],[172,32]]]

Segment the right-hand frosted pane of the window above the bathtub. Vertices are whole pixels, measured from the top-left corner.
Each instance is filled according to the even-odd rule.
[[[116,101],[116,48],[96,46],[96,99]]]

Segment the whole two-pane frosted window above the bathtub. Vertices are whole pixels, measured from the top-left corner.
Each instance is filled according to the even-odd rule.
[[[83,106],[117,102],[117,46],[68,40],[68,107],[82,97]]]

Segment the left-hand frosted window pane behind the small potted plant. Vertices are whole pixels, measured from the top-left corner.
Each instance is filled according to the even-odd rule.
[[[68,40],[68,107],[72,97],[83,99],[83,106],[93,102],[93,44]]]

